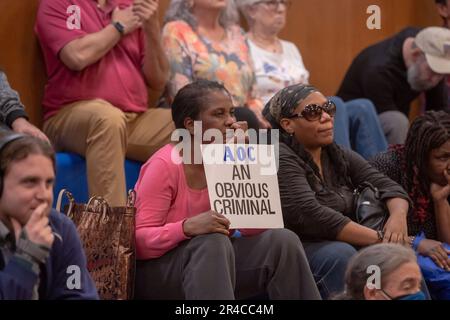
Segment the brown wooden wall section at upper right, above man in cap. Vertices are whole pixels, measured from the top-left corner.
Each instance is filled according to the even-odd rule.
[[[381,9],[381,30],[366,26],[370,5]],[[334,94],[363,48],[405,26],[439,23],[432,0],[294,0],[282,37],[300,48],[311,83]]]

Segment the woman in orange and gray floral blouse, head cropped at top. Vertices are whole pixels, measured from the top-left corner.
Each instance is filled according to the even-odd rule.
[[[238,119],[253,129],[267,127],[234,0],[172,0],[165,20],[162,42],[171,75],[161,104],[170,106],[178,90],[195,80],[218,81],[240,107]]]

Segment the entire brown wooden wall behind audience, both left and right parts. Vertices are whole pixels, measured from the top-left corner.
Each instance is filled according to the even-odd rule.
[[[45,69],[33,26],[39,0],[0,0],[0,67],[19,91],[31,121],[41,125]],[[90,1],[90,0],[86,0]],[[169,0],[160,0],[161,18]],[[311,82],[334,94],[364,47],[408,25],[440,25],[433,0],[292,0],[282,38],[300,48]],[[368,30],[366,9],[379,5],[382,29]],[[157,94],[152,93],[155,100]]]

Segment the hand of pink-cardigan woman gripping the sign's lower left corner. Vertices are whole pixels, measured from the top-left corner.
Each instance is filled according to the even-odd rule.
[[[228,236],[230,234],[229,229],[230,221],[212,210],[188,218],[183,223],[183,232],[188,237],[209,233],[223,233]]]

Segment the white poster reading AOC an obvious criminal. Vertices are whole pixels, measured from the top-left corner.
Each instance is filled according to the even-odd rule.
[[[273,145],[205,144],[202,157],[211,210],[231,229],[284,227]]]

